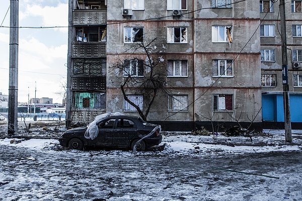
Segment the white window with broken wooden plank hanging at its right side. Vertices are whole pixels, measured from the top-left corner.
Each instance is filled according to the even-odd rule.
[[[232,27],[212,26],[212,42],[233,42]]]

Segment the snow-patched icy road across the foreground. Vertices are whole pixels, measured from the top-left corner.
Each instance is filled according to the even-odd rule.
[[[0,153],[0,200],[302,200],[302,152],[181,156],[0,145]]]

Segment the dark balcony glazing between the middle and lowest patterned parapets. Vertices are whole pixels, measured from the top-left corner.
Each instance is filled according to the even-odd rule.
[[[74,59],[74,75],[106,75],[106,59]]]

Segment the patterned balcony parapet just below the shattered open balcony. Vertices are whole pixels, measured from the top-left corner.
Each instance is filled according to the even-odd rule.
[[[106,57],[106,43],[74,42],[72,44],[72,57]]]

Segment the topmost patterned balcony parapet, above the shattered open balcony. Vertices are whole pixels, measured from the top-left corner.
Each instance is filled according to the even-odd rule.
[[[73,10],[73,25],[101,25],[107,23],[107,10]]]

